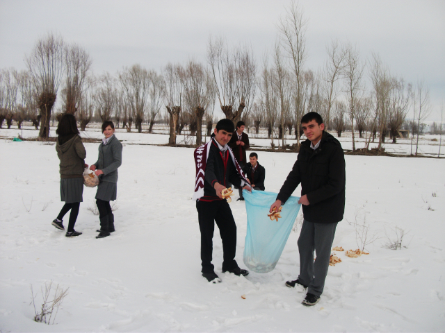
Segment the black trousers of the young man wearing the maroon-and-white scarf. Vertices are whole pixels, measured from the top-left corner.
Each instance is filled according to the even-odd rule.
[[[197,201],[196,210],[201,230],[201,262],[202,273],[212,273],[213,232],[215,222],[220,230],[223,241],[223,271],[231,271],[238,267],[236,254],[236,224],[232,210],[226,200],[211,202]]]

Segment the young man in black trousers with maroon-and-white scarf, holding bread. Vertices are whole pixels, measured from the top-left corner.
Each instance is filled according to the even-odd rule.
[[[223,199],[222,191],[229,182],[242,188],[244,180],[239,175],[227,143],[232,137],[234,124],[229,119],[222,119],[216,124],[215,136],[211,139],[209,156],[204,173],[204,196],[196,202],[198,221],[201,231],[202,276],[209,282],[221,282],[211,263],[213,253],[213,232],[215,223],[220,230],[223,241],[223,273],[248,275],[249,272],[239,268],[235,261],[236,224],[229,203]],[[250,186],[245,186],[250,191]]]

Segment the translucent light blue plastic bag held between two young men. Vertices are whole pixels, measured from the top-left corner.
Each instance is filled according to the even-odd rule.
[[[245,235],[243,262],[252,271],[268,273],[275,268],[297,219],[300,204],[291,196],[283,205],[278,222],[270,221],[270,205],[277,194],[266,191],[243,191],[245,210],[248,214],[248,231]]]

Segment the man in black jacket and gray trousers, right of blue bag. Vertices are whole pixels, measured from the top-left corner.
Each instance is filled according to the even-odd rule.
[[[270,206],[284,205],[301,183],[303,224],[298,238],[300,275],[286,282],[287,287],[307,289],[303,305],[320,300],[329,268],[332,241],[345,207],[345,158],[340,142],[325,132],[320,114],[309,112],[301,119],[307,140],[302,142],[298,160],[287,176],[277,200]],[[316,260],[314,261],[314,249]]]

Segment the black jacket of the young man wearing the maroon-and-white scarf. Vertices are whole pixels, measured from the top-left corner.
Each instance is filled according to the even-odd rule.
[[[204,182],[204,196],[200,198],[201,201],[213,201],[222,200],[216,194],[215,182],[219,182],[225,187],[229,187],[229,182],[240,186],[241,176],[238,175],[234,162],[232,162],[232,157],[230,157],[229,151],[225,151],[224,160],[220,152],[220,148],[213,141],[210,145],[209,157],[207,158],[206,169],[204,171],[205,182]]]

